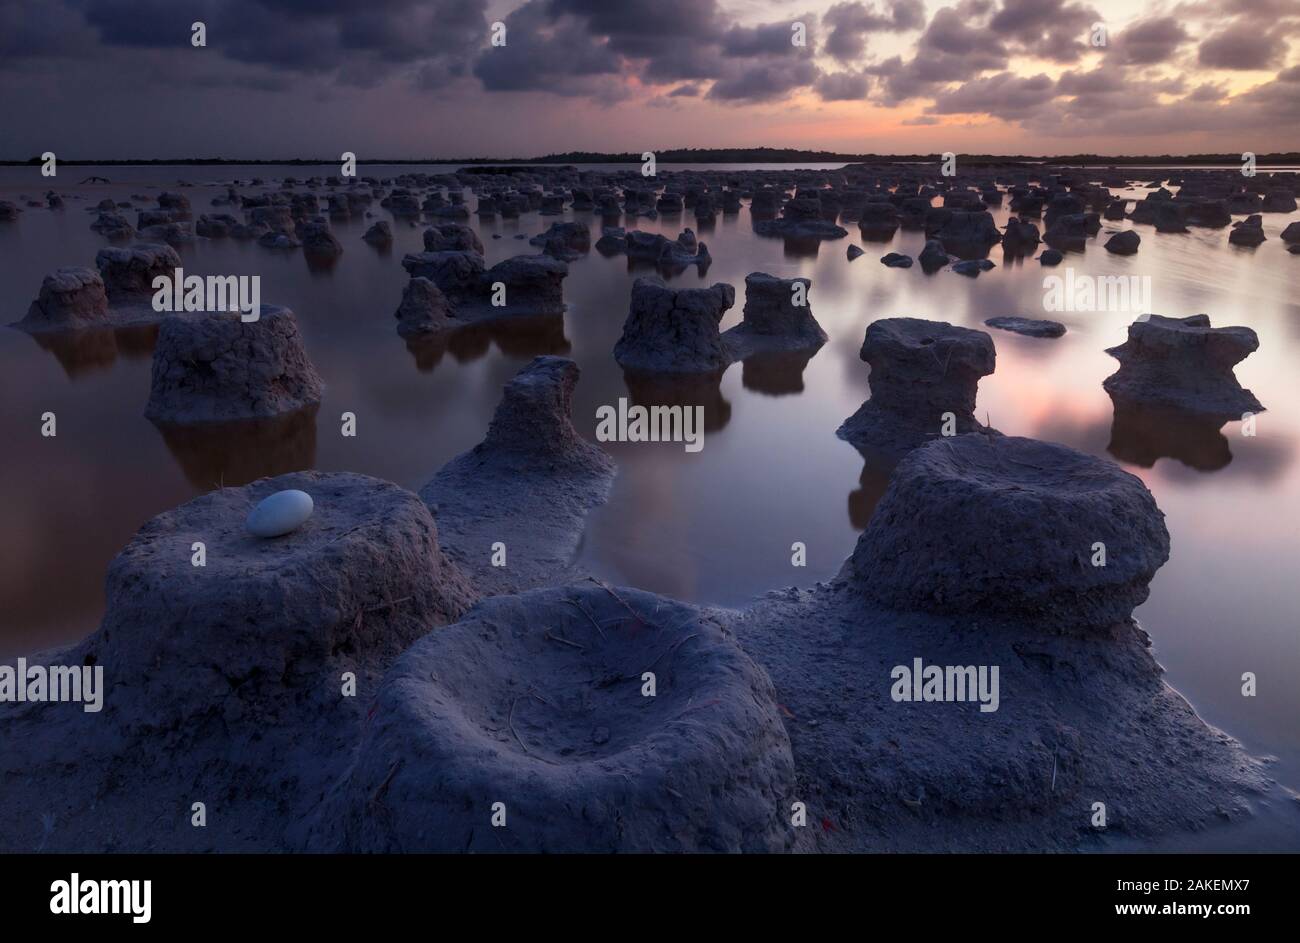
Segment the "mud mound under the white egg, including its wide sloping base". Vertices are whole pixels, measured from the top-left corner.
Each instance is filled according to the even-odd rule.
[[[307,492],[312,516],[250,535],[250,510],[285,489]],[[285,475],[159,515],[109,567],[99,631],[48,656],[101,667],[103,710],[0,718],[0,782],[25,823],[0,829],[0,845],[34,848],[48,813],[48,851],[294,847],[286,829],[341,775],[367,692],[472,601],[425,506],[377,479]]]

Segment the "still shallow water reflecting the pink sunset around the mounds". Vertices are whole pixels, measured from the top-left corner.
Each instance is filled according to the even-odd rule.
[[[365,166],[361,173],[442,169]],[[64,168],[56,183],[68,202],[64,211],[27,208],[17,224],[0,224],[0,317],[22,317],[42,277],[55,268],[94,264],[95,252],[108,243],[90,230],[94,215],[86,208],[104,196],[156,198],[160,189],[176,189],[178,178],[198,183],[334,172]],[[73,186],[92,173],[120,182]],[[39,196],[48,183],[36,168],[0,168],[0,199]],[[207,186],[186,190],[195,216],[209,211],[217,193]],[[1145,193],[1124,195],[1140,199]],[[372,212],[389,219],[377,204]],[[1008,211],[993,215],[1001,225]],[[134,222],[134,212],[127,217]],[[754,235],[748,209],[720,216],[716,226],[699,232],[715,259],[707,276],[690,269],[670,284],[734,285],[737,304],[723,323],[729,328],[741,319],[749,272],[810,277],[812,312],[831,339],[802,375],[797,365],[767,372],[733,365],[719,389],[684,392],[696,397],[690,402],[706,405],[705,446],[697,454],[681,444],[607,444],[619,477],[610,502],[589,519],[582,558],[611,581],[722,605],[828,579],[852,551],[885,484],[835,436],[868,395],[867,368],[858,359],[866,325],[892,316],[971,328],[996,315],[1061,320],[1069,333],[1056,341],[989,332],[998,362],[997,372],[980,384],[980,418],[987,415],[1008,434],[1110,455],[1150,486],[1173,536],[1171,559],[1138,610],[1156,656],[1202,717],[1252,752],[1275,756],[1274,774],[1300,786],[1300,685],[1292,680],[1300,667],[1300,258],[1288,255],[1278,239],[1297,217],[1265,215],[1269,241],[1257,250],[1230,246],[1226,229],[1170,235],[1138,226],[1141,248],[1128,258],[1105,252],[1101,242],[1130,224],[1106,222],[1086,254],[1069,255],[1054,271],[1032,260],[1004,264],[994,248],[991,258],[998,268],[970,280],[876,261],[888,251],[915,255],[920,233],[900,230],[888,243],[864,242],[848,224],[848,239],[824,242],[811,256]],[[537,251],[514,237],[533,235],[562,219],[575,215],[471,224],[480,229],[491,264]],[[599,235],[597,217],[576,219]],[[179,250],[187,273],[259,273],[263,300],[296,312],[328,384],[315,425],[307,421],[256,441],[169,442],[143,416],[147,336],[47,351],[21,332],[0,332],[0,434],[6,446],[0,463],[0,654],[88,633],[101,615],[104,571],[113,554],[151,516],[222,481],[311,466],[417,489],[443,462],[482,438],[502,385],[537,354],[564,354],[581,365],[575,423],[589,437],[597,407],[629,395],[611,355],[632,281],[644,273],[629,271],[627,259],[593,251],[571,263],[563,321],[467,332],[445,350],[408,350],[393,312],[406,282],[400,259],[422,248],[424,228],[394,224],[395,246],[381,254],[360,241],[370,222],[334,224],[344,254],[329,271],[309,269],[299,251],[278,254],[231,239]],[[694,228],[694,217],[688,212],[627,225],[672,237]],[[852,264],[845,260],[850,243],[866,250]],[[1123,341],[1134,313],[1044,312],[1043,277],[1063,276],[1067,265],[1075,274],[1149,276],[1156,313],[1205,312],[1216,326],[1240,324],[1258,332],[1260,350],[1238,368],[1242,384],[1269,410],[1257,419],[1257,434],[1243,436],[1240,423],[1214,431],[1161,415],[1124,418],[1117,425],[1101,388],[1115,369],[1105,349]],[[56,438],[40,436],[46,411],[57,415]],[[355,438],[339,434],[343,411],[356,414]],[[806,568],[790,564],[794,541],[807,546]],[[1242,696],[1244,671],[1257,675],[1258,696]]]

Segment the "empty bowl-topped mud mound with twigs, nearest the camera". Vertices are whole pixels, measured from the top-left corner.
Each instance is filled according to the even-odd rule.
[[[708,613],[634,589],[545,589],[488,600],[400,658],[316,842],[786,851],[793,778],[771,682]]]

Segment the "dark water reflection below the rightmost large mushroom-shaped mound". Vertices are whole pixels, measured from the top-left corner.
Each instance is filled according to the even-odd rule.
[[[1232,460],[1222,418],[1117,399],[1110,445],[1106,450],[1121,462],[1150,468],[1162,458],[1178,459],[1197,471],[1212,472]]]

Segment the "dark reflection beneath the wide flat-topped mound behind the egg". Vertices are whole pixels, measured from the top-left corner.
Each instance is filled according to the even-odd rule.
[[[316,406],[272,419],[157,427],[185,477],[204,490],[316,464]]]

